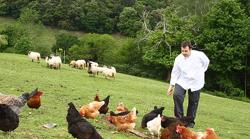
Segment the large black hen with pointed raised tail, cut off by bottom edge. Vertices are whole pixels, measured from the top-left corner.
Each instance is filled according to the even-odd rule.
[[[74,104],[70,102],[66,120],[68,122],[68,132],[77,139],[102,139],[86,119],[76,110]]]

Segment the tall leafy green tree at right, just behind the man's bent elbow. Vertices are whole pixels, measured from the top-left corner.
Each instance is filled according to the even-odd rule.
[[[209,11],[201,44],[211,60],[210,86],[232,95],[243,89],[247,51],[246,15],[235,0],[222,0]],[[216,88],[217,87],[217,88]],[[241,96],[243,92],[237,95]]]

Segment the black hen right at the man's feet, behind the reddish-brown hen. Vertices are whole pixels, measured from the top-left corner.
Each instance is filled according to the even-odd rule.
[[[167,117],[163,115],[161,117],[161,126],[163,128],[166,128],[166,127],[169,127],[169,125],[173,123],[182,123],[182,125],[187,126],[191,121],[192,121],[191,117],[175,118],[175,117]]]

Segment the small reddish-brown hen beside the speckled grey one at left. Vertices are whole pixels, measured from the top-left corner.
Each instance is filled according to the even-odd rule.
[[[28,107],[38,109],[41,106],[41,98],[40,97],[42,95],[43,95],[43,92],[41,92],[41,91],[34,92],[32,97],[30,97],[30,99],[27,102]]]

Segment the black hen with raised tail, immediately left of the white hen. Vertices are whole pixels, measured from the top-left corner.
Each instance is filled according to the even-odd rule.
[[[157,108],[157,106],[154,106],[154,110],[143,116],[141,121],[141,127],[142,128],[147,127],[147,122],[153,120],[155,117],[158,116],[158,114],[162,115],[163,110],[164,107]]]

